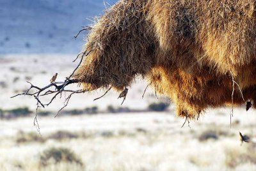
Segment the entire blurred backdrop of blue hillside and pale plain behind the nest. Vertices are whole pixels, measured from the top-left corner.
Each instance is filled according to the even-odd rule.
[[[175,105],[136,78],[124,105],[119,93],[77,94],[58,117],[63,98],[38,111],[19,96],[29,88],[70,75],[86,33],[82,26],[114,0],[0,0],[0,168],[1,170],[256,170],[255,112],[209,108],[183,128]],[[74,86],[74,89],[77,87]],[[67,95],[67,94],[64,94]],[[49,101],[51,98],[45,98]],[[239,131],[250,143],[239,140]]]

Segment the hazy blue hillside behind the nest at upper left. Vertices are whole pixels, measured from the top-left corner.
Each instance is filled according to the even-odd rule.
[[[105,8],[104,0],[0,0],[0,54],[77,53],[83,34],[74,35]]]

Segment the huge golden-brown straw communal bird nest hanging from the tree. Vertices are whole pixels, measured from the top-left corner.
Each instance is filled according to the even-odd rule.
[[[120,91],[142,75],[176,103],[178,115],[189,118],[207,107],[255,101],[255,5],[251,0],[118,1],[92,26],[83,49],[90,54],[74,78],[86,89]]]

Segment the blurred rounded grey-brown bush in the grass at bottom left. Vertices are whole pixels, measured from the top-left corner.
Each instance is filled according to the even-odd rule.
[[[78,165],[83,165],[81,159],[77,155],[67,148],[50,148],[45,149],[40,155],[40,163],[44,166],[56,164],[60,162],[66,163],[76,163]]]

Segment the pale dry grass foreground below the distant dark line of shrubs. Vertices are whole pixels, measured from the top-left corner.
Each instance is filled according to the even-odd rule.
[[[235,109],[235,113],[241,112]],[[239,142],[239,131],[255,138],[253,112],[212,111],[191,128],[168,113],[40,117],[0,120],[1,170],[255,170],[255,144]],[[245,116],[246,115],[246,116]],[[246,119],[245,119],[246,118]],[[237,122],[236,122],[237,123]],[[68,124],[68,125],[67,125]]]

